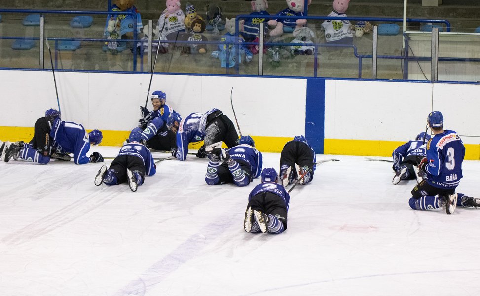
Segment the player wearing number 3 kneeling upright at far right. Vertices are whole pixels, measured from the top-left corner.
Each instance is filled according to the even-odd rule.
[[[443,115],[435,111],[428,115],[427,127],[433,138],[427,143],[426,154],[419,168],[425,179],[411,191],[410,207],[414,210],[442,208],[452,214],[456,206],[478,207],[480,199],[455,193],[462,176],[465,146],[460,136],[452,130],[443,130]],[[438,197],[437,197],[438,195]]]

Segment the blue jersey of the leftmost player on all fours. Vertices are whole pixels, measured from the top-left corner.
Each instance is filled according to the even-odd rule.
[[[67,153],[74,153],[75,164],[90,162],[86,154],[90,149],[88,133],[78,123],[55,119],[50,136],[55,141],[54,146]]]

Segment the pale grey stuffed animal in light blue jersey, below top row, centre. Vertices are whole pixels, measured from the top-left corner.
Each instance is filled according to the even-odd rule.
[[[239,32],[243,29],[244,21],[239,22]],[[225,29],[228,31],[220,38],[221,44],[219,44],[219,50],[212,52],[211,56],[213,58],[218,58],[220,60],[220,66],[225,68],[231,68],[235,66],[235,63],[241,63],[242,57],[245,55],[245,61],[250,62],[252,60],[252,52],[245,47],[243,37],[235,35],[235,19],[226,19]],[[240,44],[235,44],[239,42]],[[237,53],[238,48],[238,53]]]

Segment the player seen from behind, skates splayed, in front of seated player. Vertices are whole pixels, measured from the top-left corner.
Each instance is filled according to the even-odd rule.
[[[139,132],[131,132],[129,143],[120,148],[117,157],[111,162],[110,168],[103,165],[95,176],[95,185],[103,183],[117,185],[128,181],[130,189],[135,192],[144,183],[145,176],[153,176],[156,165],[147,147],[140,144],[142,136]]]

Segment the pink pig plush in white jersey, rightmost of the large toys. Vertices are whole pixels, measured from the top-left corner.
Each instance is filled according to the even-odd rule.
[[[347,17],[345,12],[348,9],[350,0],[333,0],[333,11],[328,16]],[[347,20],[325,20],[322,23],[325,30],[325,39],[327,42],[352,44],[353,31],[350,28],[350,21]]]

